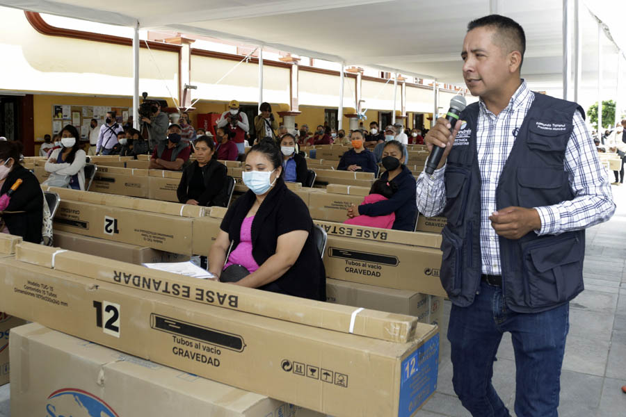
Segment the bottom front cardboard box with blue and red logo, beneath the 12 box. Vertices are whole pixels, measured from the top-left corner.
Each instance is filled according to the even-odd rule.
[[[294,405],[145,361],[37,323],[13,329],[11,346],[14,416],[302,415],[296,414]]]

